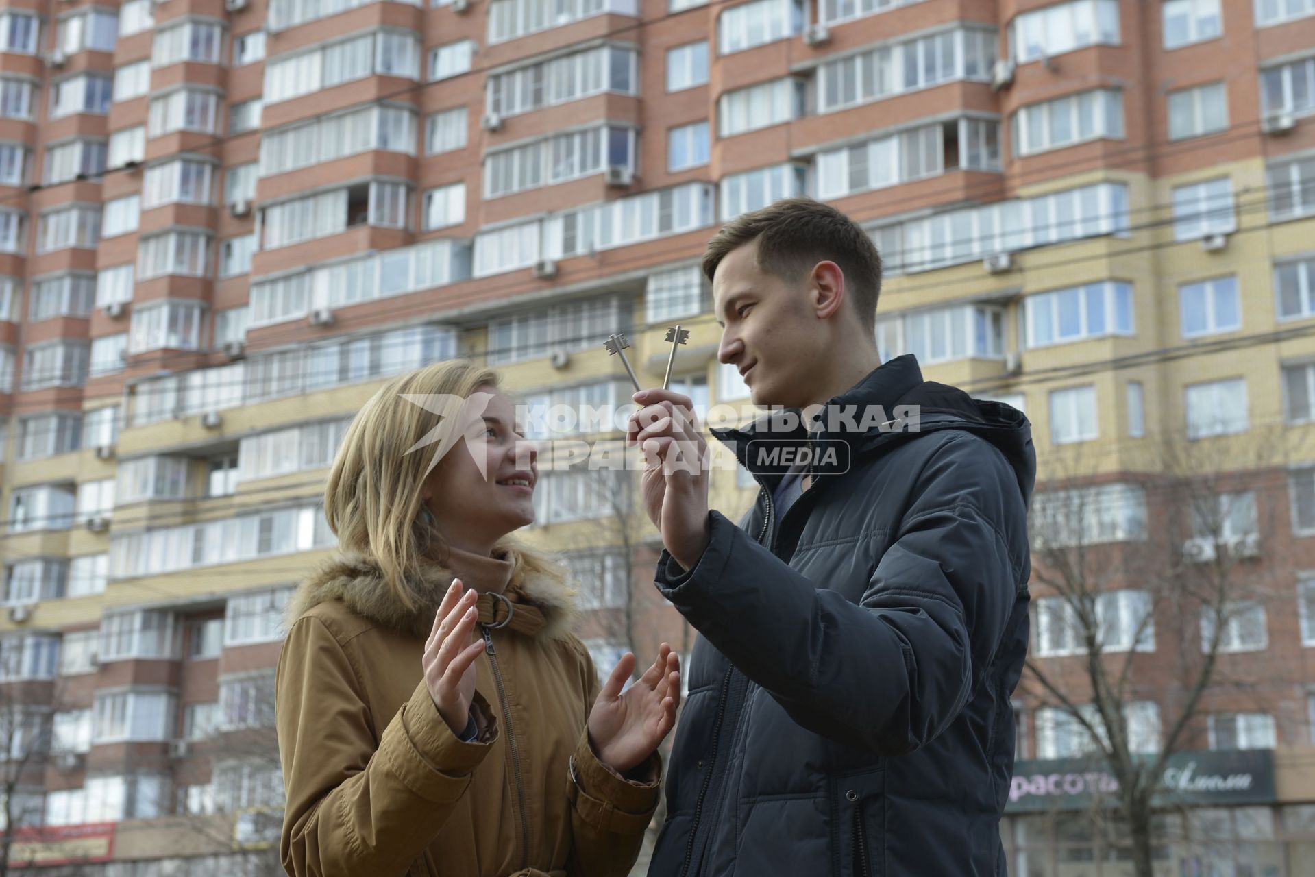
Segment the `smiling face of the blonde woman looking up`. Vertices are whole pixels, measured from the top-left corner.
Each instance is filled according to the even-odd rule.
[[[488,393],[488,404],[462,406],[460,439],[425,480],[423,500],[450,542],[484,551],[534,523],[538,467],[533,443],[515,429],[512,401],[490,387],[476,392]]]

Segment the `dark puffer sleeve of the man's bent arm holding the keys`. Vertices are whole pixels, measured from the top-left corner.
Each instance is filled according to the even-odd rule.
[[[796,572],[717,511],[694,568],[663,551],[656,584],[794,722],[905,755],[968,702],[1027,563],[1022,492],[1003,455],[980,439],[945,440],[911,497],[859,604]]]

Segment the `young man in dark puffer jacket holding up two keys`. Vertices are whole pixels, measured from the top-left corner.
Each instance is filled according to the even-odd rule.
[[[718,359],[803,426],[713,430],[761,485],[707,508],[688,397],[636,393],[656,585],[701,634],[652,877],[1005,874],[1010,693],[1027,650],[1027,419],[880,363],[881,260],[807,199],[707,245]],[[849,406],[847,419],[832,417]],[[811,435],[807,425],[814,423]],[[819,431],[818,431],[819,430]],[[838,459],[760,465],[769,437]],[[682,459],[685,463],[676,463]],[[673,464],[676,463],[676,464]]]

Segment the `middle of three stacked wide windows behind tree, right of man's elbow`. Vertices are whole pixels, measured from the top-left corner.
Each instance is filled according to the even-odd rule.
[[[1095,635],[1102,652],[1155,651],[1151,596],[1111,590],[1094,596]],[[1040,657],[1085,655],[1086,634],[1077,606],[1064,597],[1036,601],[1036,653]]]

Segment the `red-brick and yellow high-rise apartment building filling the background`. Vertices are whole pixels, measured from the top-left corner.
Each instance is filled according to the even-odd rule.
[[[1215,845],[1165,841],[1157,873],[1315,874],[1315,0],[12,0],[14,860],[256,873],[231,851],[277,845],[279,619],[331,550],[318,502],[346,422],[452,356],[535,405],[621,405],[601,342],[627,333],[656,385],[676,322],[673,385],[746,402],[698,259],[721,222],[796,195],[871,230],[882,355],[1024,409],[1038,502],[1091,498],[1102,550],[1182,522],[1161,446],[1222,448],[1211,476],[1252,497],[1226,535],[1273,586],[1220,667],[1261,681],[1212,688],[1182,748],[1202,772],[1268,755],[1249,797],[1187,814]],[[527,534],[580,579],[600,663],[693,636],[648,585],[660,544],[618,517],[623,484],[546,473]],[[753,489],[719,472],[713,500],[738,513]],[[1136,579],[1110,618],[1137,618]],[[1032,657],[1080,698],[1066,610],[1034,596]],[[1148,751],[1181,699],[1169,652],[1208,628],[1155,622],[1107,643],[1130,625],[1147,652]],[[1018,707],[1022,774],[1060,780],[1014,795],[1011,873],[1131,874],[1052,769],[1081,730],[1023,689]]]

